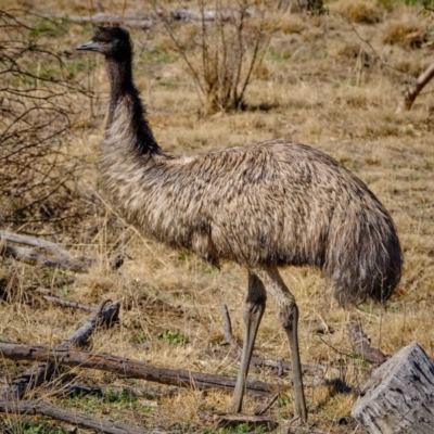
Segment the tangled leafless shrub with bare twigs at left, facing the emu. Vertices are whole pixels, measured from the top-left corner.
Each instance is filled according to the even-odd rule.
[[[85,92],[56,52],[65,30],[18,11],[0,11],[0,221],[64,218],[78,164],[65,137],[74,95]]]

